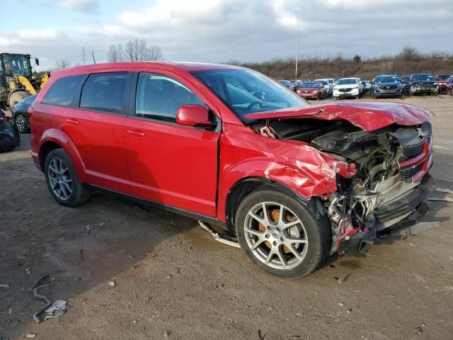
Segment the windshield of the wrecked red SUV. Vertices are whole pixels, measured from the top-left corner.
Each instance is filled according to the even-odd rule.
[[[304,99],[258,72],[245,69],[196,71],[191,74],[218,96],[243,122],[249,113],[308,106]]]

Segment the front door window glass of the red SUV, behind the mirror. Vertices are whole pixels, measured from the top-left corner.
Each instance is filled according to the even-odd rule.
[[[135,98],[135,115],[142,118],[176,122],[178,108],[205,103],[190,89],[173,78],[155,73],[140,73]]]

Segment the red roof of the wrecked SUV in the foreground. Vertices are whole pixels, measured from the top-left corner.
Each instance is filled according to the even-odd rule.
[[[67,69],[59,69],[55,74],[81,74],[96,69],[116,69],[121,67],[156,67],[161,69],[180,69],[185,72],[205,71],[212,69],[243,69],[243,67],[228,64],[213,64],[202,62],[105,62],[101,64],[90,64]]]

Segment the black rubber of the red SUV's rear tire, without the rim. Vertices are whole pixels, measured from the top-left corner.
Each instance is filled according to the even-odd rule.
[[[53,159],[61,160],[66,164],[69,174],[71,176],[71,183],[72,183],[72,192],[66,200],[59,198],[54,191],[52,191],[52,186],[50,184],[49,179],[49,166]],[[79,181],[79,177],[77,176],[76,169],[72,164],[69,155],[64,151],[64,149],[55,149],[52,150],[45,159],[44,165],[44,174],[45,174],[45,181],[47,183],[47,188],[49,188],[52,197],[61,205],[67,207],[75,207],[76,205],[80,205],[85,203],[90,198],[90,191],[84,186],[81,181]]]

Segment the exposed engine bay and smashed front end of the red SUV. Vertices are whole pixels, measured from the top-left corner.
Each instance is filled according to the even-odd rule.
[[[432,164],[429,122],[368,132],[345,120],[290,118],[260,121],[251,128],[266,137],[309,143],[355,164],[355,176],[336,176],[337,191],[321,197],[332,226],[332,252],[352,236],[377,239],[428,211],[424,200],[433,186],[427,173]]]

